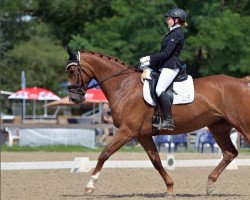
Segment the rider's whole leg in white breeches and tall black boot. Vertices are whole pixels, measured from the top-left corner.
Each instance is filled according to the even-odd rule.
[[[159,127],[161,129],[173,130],[174,128],[172,112],[171,112],[171,102],[165,91],[173,82],[178,72],[179,68],[176,69],[163,68],[156,86],[156,94],[159,97],[164,116],[163,121]]]

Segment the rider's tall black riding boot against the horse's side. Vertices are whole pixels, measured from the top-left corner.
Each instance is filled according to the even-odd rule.
[[[160,99],[161,109],[163,112],[163,121],[158,128],[173,130],[174,122],[173,122],[173,117],[172,117],[170,99],[166,92],[162,92],[159,99]]]

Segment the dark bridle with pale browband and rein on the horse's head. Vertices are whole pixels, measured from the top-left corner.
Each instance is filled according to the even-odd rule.
[[[109,80],[111,78],[114,78],[116,76],[122,75],[123,72],[125,72],[128,69],[131,69],[131,67],[128,66],[125,69],[123,69],[123,70],[121,70],[121,71],[119,71],[117,73],[112,74],[110,77],[107,77],[107,78],[103,79],[102,81],[99,81],[96,84],[88,87],[88,84],[83,81],[81,72],[83,72],[89,79],[92,79],[92,78],[86,72],[86,70],[84,70],[80,65],[80,52],[79,51],[78,51],[77,60],[72,60],[72,61],[69,60],[68,65],[66,66],[65,70],[67,71],[67,69],[72,65],[77,67],[77,83],[72,84],[72,85],[68,85],[68,91],[71,92],[71,93],[74,93],[74,94],[81,95],[81,96],[84,96],[86,94],[87,90],[89,90],[91,88],[94,88],[96,86],[100,86],[105,81],[107,81],[107,80]]]

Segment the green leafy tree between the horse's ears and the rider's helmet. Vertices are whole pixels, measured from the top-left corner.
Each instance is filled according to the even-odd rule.
[[[173,6],[173,1],[166,0],[113,0],[113,15],[86,22],[82,33],[73,35],[70,45],[138,63],[139,57],[159,51],[167,32],[163,14]]]

